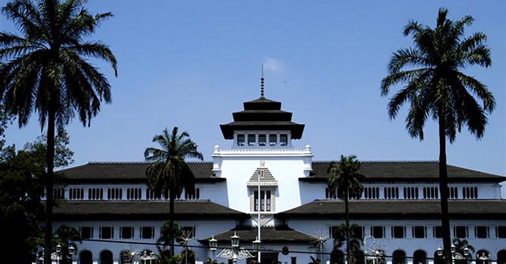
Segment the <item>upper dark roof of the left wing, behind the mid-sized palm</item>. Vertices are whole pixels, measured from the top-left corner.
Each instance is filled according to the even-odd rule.
[[[65,180],[72,182],[146,182],[147,162],[89,162],[72,168],[62,169]],[[225,178],[212,175],[212,162],[188,162],[197,183],[222,182]]]

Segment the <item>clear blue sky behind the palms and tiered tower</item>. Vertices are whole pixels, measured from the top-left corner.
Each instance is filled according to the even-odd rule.
[[[6,0],[0,0],[5,6]],[[411,45],[402,35],[410,19],[434,26],[440,7],[449,17],[474,16],[468,33],[489,39],[492,67],[465,72],[488,85],[497,101],[485,137],[467,129],[448,146],[448,163],[504,175],[504,1],[97,1],[92,12],[111,11],[94,39],[110,45],[118,77],[97,62],[112,84],[113,103],[103,105],[91,127],[68,127],[74,165],[88,161],[139,161],[164,127],[187,130],[205,160],[213,146],[230,147],[219,124],[232,121],[242,102],[260,96],[265,65],[266,97],[282,102],[306,124],[302,140],[314,160],[354,153],[361,160],[437,160],[435,123],[426,139],[410,139],[405,112],[387,116],[379,95],[392,52]],[[485,4],[484,4],[485,3]],[[4,16],[2,30],[14,27]],[[40,133],[36,118],[7,131],[22,146]]]

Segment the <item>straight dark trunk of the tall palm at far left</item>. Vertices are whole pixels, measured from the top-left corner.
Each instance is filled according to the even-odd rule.
[[[44,263],[51,263],[51,237],[53,235],[53,170],[55,165],[55,111],[49,109],[48,113],[48,140],[47,140],[48,171],[46,175],[46,234],[44,237]]]

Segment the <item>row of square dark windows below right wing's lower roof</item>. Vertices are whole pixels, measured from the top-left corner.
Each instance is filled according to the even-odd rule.
[[[330,227],[329,232],[332,238],[338,238],[343,234],[338,232],[338,227]],[[353,230],[357,237],[363,237],[363,227],[355,227]],[[385,238],[386,228],[383,226],[372,226],[370,227],[370,235],[374,238]],[[394,226],[390,228],[390,234],[392,238],[406,238],[406,227],[405,226]],[[411,227],[412,238],[427,238],[428,229],[426,226],[413,226]],[[443,238],[443,229],[441,226],[432,227],[432,237]],[[456,238],[469,238],[469,227],[467,226],[454,226],[453,237]],[[491,238],[490,228],[488,226],[476,226],[474,228],[475,238]],[[496,238],[506,238],[506,226],[495,227]]]

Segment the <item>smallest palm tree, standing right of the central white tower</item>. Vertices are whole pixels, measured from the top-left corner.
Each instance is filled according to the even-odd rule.
[[[352,245],[350,236],[350,210],[348,208],[349,198],[360,198],[364,191],[363,185],[360,183],[364,179],[364,175],[360,174],[360,162],[357,156],[341,155],[341,160],[330,164],[327,173],[330,173],[327,179],[327,186],[330,193],[337,191],[338,196],[345,201],[345,218],[346,218],[346,258],[347,262],[351,262]]]

